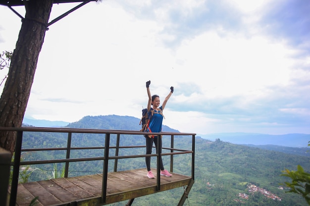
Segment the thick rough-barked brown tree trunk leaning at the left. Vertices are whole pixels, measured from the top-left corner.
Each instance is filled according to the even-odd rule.
[[[52,0],[24,2],[26,15],[0,98],[0,126],[20,127],[22,124],[52,10]],[[15,132],[0,131],[0,147],[11,154],[15,141]]]

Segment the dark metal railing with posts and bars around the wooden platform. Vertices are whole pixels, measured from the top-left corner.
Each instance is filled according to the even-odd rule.
[[[192,167],[191,167],[191,178],[194,180],[194,163],[195,163],[195,135],[194,133],[181,133],[181,132],[153,132],[154,135],[164,135],[170,136],[170,148],[162,147],[164,150],[168,150],[168,153],[150,154],[150,155],[127,155],[119,156],[119,149],[123,148],[141,148],[145,147],[142,145],[137,146],[119,146],[121,135],[146,135],[149,133],[133,130],[104,130],[104,129],[77,129],[77,128],[46,128],[46,127],[0,127],[2,131],[12,131],[16,132],[16,144],[15,144],[15,153],[14,161],[11,163],[13,166],[12,182],[11,182],[11,192],[9,199],[9,206],[15,206],[16,197],[17,197],[17,186],[19,178],[19,168],[22,165],[39,165],[39,164],[50,164],[50,163],[65,163],[64,177],[68,177],[69,172],[69,163],[72,162],[81,162],[81,161],[98,161],[103,160],[103,182],[102,182],[102,203],[105,203],[106,200],[106,186],[107,186],[107,173],[108,173],[108,160],[114,160],[114,172],[117,172],[117,163],[119,159],[126,158],[141,158],[141,157],[157,157],[157,182],[156,187],[157,191],[160,190],[160,169],[159,169],[159,158],[161,156],[170,156],[170,171],[173,172],[173,156],[180,154],[192,154]],[[60,148],[28,148],[22,149],[22,140],[24,132],[60,132],[67,133],[67,146]],[[104,146],[103,147],[71,147],[71,138],[73,133],[87,133],[87,134],[104,134]],[[116,134],[116,145],[110,146],[110,135]],[[174,136],[191,136],[192,137],[192,149],[184,150],[174,148]],[[157,138],[157,144],[161,144],[161,138]],[[104,149],[102,157],[93,157],[93,158],[70,158],[70,152],[72,150],[81,150],[81,149]],[[110,149],[115,150],[115,155],[110,156]],[[66,153],[65,159],[51,159],[51,160],[37,160],[37,161],[20,161],[22,152],[32,152],[32,151],[56,151],[63,150]],[[160,150],[159,150],[160,151]],[[8,177],[7,177],[8,178]],[[6,189],[7,191],[7,189]]]

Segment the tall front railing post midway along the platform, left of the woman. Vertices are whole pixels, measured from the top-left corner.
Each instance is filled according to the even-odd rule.
[[[110,133],[105,133],[105,143],[104,143],[104,160],[103,160],[103,183],[102,183],[102,203],[106,201],[106,184],[107,184],[107,168],[109,160],[109,145],[110,145]]]

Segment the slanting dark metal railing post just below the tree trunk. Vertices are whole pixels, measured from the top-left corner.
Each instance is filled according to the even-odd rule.
[[[20,153],[21,153],[22,141],[23,141],[23,132],[17,131],[9,206],[15,206],[16,205],[18,175],[19,175],[19,165],[20,165]]]

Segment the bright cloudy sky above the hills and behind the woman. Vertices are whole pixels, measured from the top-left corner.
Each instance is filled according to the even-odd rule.
[[[306,0],[89,2],[46,32],[25,117],[140,119],[150,80],[161,102],[174,86],[163,124],[181,132],[310,134],[309,13]],[[13,51],[21,20],[2,5],[0,18]]]

